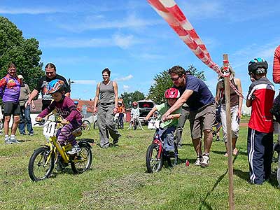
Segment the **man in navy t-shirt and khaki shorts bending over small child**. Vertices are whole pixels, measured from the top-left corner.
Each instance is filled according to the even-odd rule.
[[[187,75],[181,66],[169,69],[174,86],[181,93],[177,102],[162,116],[162,121],[179,109],[184,103],[190,108],[190,132],[197,153],[195,165],[209,166],[209,152],[213,141],[212,125],[216,119],[215,99],[207,85],[193,75]],[[202,132],[204,134],[204,153],[202,153]]]

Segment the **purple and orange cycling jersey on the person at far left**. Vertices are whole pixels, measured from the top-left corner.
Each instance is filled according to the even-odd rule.
[[[20,79],[7,74],[0,80],[0,97],[3,102],[18,102],[20,98]]]

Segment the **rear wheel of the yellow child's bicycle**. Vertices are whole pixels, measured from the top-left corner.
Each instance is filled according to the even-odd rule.
[[[92,150],[90,146],[80,144],[80,152],[71,157],[71,169],[74,174],[80,174],[90,169],[92,165]]]

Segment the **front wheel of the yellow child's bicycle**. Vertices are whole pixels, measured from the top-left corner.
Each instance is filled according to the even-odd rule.
[[[28,174],[32,181],[41,181],[52,174],[55,167],[55,154],[50,149],[41,147],[31,155],[28,165]]]

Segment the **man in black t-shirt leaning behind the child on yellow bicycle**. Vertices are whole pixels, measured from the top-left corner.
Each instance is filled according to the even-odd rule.
[[[56,73],[57,69],[55,67],[55,64],[49,63],[45,66],[45,76],[41,77],[38,81],[35,89],[31,92],[29,99],[25,103],[25,106],[29,106],[31,101],[38,95],[39,92],[42,93],[42,111],[47,108],[50,105],[50,102],[52,101],[52,96],[47,93],[47,87],[48,83],[50,83],[51,80],[59,79],[63,80],[65,84],[65,96],[70,97],[70,87],[66,81],[66,79],[63,76],[60,76]]]

